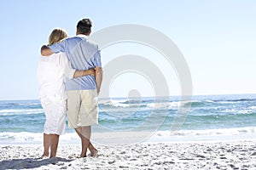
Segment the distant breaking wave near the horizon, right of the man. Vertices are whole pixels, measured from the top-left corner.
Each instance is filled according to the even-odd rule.
[[[146,101],[146,100],[145,100]],[[150,102],[148,102],[150,101]],[[242,103],[238,102],[234,105],[229,105],[229,101],[216,102],[212,99],[204,99],[204,100],[189,100],[189,101],[158,101],[152,102],[152,100],[147,100],[147,102],[137,104],[132,103],[128,104],[126,99],[122,100],[108,100],[104,101],[104,104],[100,104],[101,111],[106,112],[126,112],[126,111],[178,111],[179,109],[183,109],[183,106],[193,111],[195,115],[207,115],[207,114],[253,114],[255,112],[256,106],[247,106],[244,107]],[[227,105],[225,105],[227,104]],[[241,107],[242,106],[242,107]],[[199,114],[198,114],[198,113]],[[203,112],[203,113],[202,113]]]

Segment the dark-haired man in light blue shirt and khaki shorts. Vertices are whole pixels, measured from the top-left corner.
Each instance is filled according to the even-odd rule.
[[[90,126],[98,123],[97,94],[102,84],[101,53],[96,43],[88,40],[90,32],[91,21],[79,20],[76,37],[41,48],[41,54],[44,56],[59,52],[66,53],[74,69],[96,69],[96,77],[89,75],[66,80],[68,126],[74,128],[79,134],[82,143],[81,157],[86,156],[88,148],[91,156],[96,156],[97,153],[90,144]]]

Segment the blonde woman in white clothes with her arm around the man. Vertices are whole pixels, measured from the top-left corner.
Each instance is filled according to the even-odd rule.
[[[67,32],[56,28],[49,35],[49,45],[67,38]],[[76,78],[86,75],[95,76],[95,70],[76,71],[71,68],[64,53],[41,56],[38,62],[39,98],[44,108],[46,122],[44,123],[44,154],[55,157],[59,143],[59,136],[64,133],[67,109],[67,94],[65,92],[65,77]],[[50,149],[50,154],[49,154]],[[92,156],[97,150],[90,144]]]

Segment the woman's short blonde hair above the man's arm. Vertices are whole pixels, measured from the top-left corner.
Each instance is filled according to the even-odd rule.
[[[60,42],[64,38],[67,38],[67,31],[62,28],[55,28],[49,35],[48,45],[52,45],[55,42]]]

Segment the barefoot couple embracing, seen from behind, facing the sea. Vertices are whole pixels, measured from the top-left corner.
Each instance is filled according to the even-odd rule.
[[[76,37],[67,37],[66,31],[55,29],[49,45],[41,48],[39,98],[46,117],[43,156],[56,156],[59,135],[65,131],[66,112],[68,127],[74,128],[81,139],[80,157],[86,156],[87,149],[91,156],[98,152],[90,143],[90,126],[98,123],[102,62],[98,46],[88,40],[90,32],[90,19],[79,20]]]

